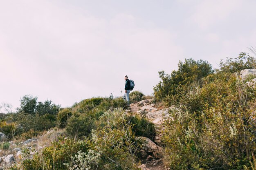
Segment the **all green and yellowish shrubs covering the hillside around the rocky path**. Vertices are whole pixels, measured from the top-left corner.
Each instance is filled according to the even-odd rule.
[[[170,117],[158,127],[145,110],[126,112],[123,99],[112,94],[70,108],[24,96],[17,113],[1,118],[0,130],[7,138],[28,139],[54,127],[61,133],[33,158],[27,152],[27,159],[10,170],[136,170],[146,144],[140,136],[157,141],[158,133],[167,168],[256,170],[256,88],[246,84],[255,76],[242,80],[239,75],[255,66],[254,57],[240,53],[221,60],[220,69],[213,70],[207,61],[186,59],[171,74],[160,71],[155,99],[147,105],[172,107]],[[136,104],[150,98],[139,91],[130,93]],[[9,147],[6,141],[1,143],[5,152]]]

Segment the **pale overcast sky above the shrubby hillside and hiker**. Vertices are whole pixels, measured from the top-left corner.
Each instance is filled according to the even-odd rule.
[[[0,0],[0,103],[62,107],[153,93],[179,60],[237,57],[256,45],[255,0]]]

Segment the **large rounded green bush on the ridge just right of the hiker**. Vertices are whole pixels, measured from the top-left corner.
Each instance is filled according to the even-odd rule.
[[[184,87],[189,86],[195,80],[213,73],[211,64],[207,61],[193,59],[185,59],[185,62],[179,62],[178,70],[172,71],[171,75],[164,71],[159,71],[160,82],[154,87],[155,98],[160,101],[162,99],[178,99],[181,97],[180,92]]]

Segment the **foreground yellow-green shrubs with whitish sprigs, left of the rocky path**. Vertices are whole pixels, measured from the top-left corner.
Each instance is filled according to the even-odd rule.
[[[105,112],[95,122],[90,138],[61,138],[22,165],[27,170],[72,170],[85,165],[92,170],[135,170],[136,154],[144,141],[136,137],[134,125],[127,120],[121,109]]]

